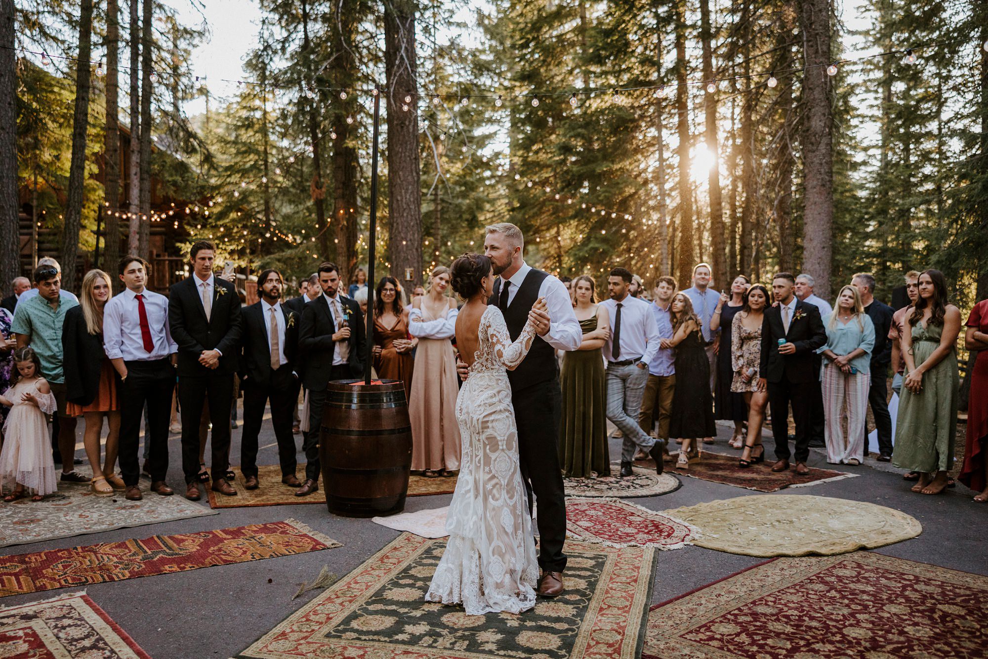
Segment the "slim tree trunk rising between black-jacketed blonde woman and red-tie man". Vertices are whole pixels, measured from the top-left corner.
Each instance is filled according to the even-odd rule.
[[[103,270],[111,274],[111,285],[120,292],[123,283],[116,275],[117,261],[121,258],[121,146],[120,125],[117,115],[120,96],[120,6],[117,0],[107,0],[107,96],[106,133],[104,134],[103,175],[106,182],[104,199],[107,229],[104,238]],[[99,237],[97,237],[99,239]],[[99,267],[100,264],[97,264]]]

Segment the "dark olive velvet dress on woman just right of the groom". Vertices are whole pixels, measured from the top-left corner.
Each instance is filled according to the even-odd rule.
[[[580,321],[584,334],[597,329],[597,316]],[[559,465],[569,478],[611,475],[605,418],[606,385],[600,350],[575,350],[562,361],[562,424]]]

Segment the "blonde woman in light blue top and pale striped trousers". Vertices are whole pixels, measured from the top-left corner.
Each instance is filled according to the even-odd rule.
[[[851,285],[837,293],[837,306],[823,319],[827,343],[820,349],[826,358],[821,369],[827,461],[861,464],[864,461],[864,415],[871,383],[871,350],[874,325],[864,313],[861,293]],[[879,377],[884,377],[880,373]],[[841,427],[847,410],[848,437]]]

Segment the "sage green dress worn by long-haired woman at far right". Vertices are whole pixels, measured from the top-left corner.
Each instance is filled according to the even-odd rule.
[[[938,325],[913,326],[913,364],[918,367],[937,350],[943,331]],[[923,373],[923,389],[919,393],[902,387],[892,464],[924,473],[953,468],[959,388],[957,355],[953,350],[940,364]]]

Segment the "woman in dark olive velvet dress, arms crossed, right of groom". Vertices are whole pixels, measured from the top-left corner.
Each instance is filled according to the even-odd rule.
[[[559,464],[567,478],[611,475],[605,409],[607,386],[601,349],[611,336],[607,310],[596,303],[594,280],[586,275],[573,281],[573,310],[583,330],[583,343],[562,362],[562,424],[559,427]]]

